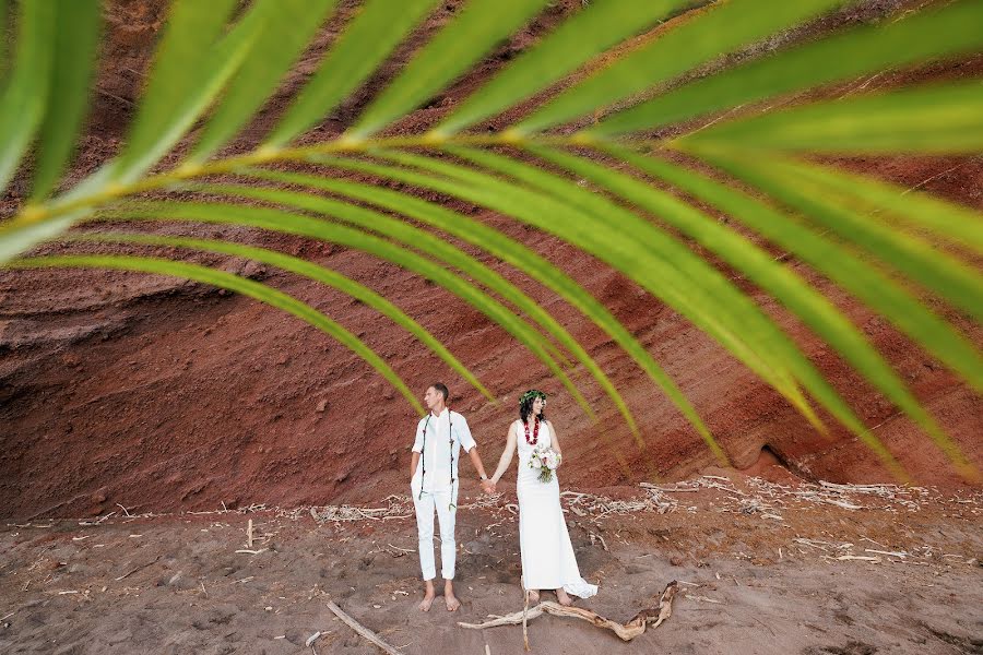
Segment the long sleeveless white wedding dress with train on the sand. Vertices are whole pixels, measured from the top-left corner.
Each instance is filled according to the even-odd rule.
[[[568,594],[590,598],[597,585],[580,576],[570,534],[559,502],[556,472],[548,483],[538,479],[538,469],[530,468],[533,445],[525,441],[525,426],[516,421],[519,450],[519,547],[522,551],[522,586],[526,590],[564,588]],[[549,428],[540,424],[538,443],[552,443]]]

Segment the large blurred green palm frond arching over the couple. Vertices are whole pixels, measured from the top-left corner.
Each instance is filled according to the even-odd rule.
[[[471,0],[460,10],[436,0],[406,0],[399,11],[389,0],[367,0],[351,16],[340,13],[340,4],[174,0],[120,155],[64,188],[61,178],[71,165],[97,70],[99,3],[16,2],[16,34],[0,98],[0,188],[16,181],[29,189],[23,194],[29,200],[0,221],[0,263],[163,273],[229,288],[337,338],[419,409],[407,385],[368,346],[275,288],[159,258],[24,257],[38,243],[97,218],[217,223],[342,243],[434,281],[501,325],[595,418],[595,408],[573,383],[582,368],[641,444],[644,430],[628,403],[570,327],[494,266],[449,242],[449,236],[542,284],[612,336],[725,461],[685,389],[560,266],[487,225],[414,196],[418,191],[447,194],[555,235],[624,274],[714,338],[818,430],[825,426],[813,403],[904,477],[895,455],[800,345],[734,281],[690,249],[685,239],[691,238],[832,346],[921,426],[960,474],[979,476],[861,331],[807,276],[756,245],[763,240],[801,259],[884,315],[971,389],[983,391],[979,346],[943,318],[951,308],[976,323],[983,319],[983,275],[973,260],[983,252],[981,214],[836,170],[813,156],[980,154],[979,79],[884,93],[865,92],[869,79],[856,82],[979,55],[979,1],[956,0],[832,31],[817,21],[854,2],[608,0],[573,11],[552,31],[543,26],[556,22],[559,10],[547,0]],[[543,15],[548,20],[537,19]],[[264,123],[273,129],[253,138],[247,128],[280,93],[292,68],[301,58],[305,66],[311,62],[312,45],[329,23],[341,25],[331,48],[285,112]],[[803,25],[807,37],[796,32]],[[510,51],[495,49],[521,29],[535,34],[533,45],[499,73],[473,93],[466,93],[469,85],[454,86],[450,109],[428,110],[423,127],[400,122],[465,72],[485,66],[479,62],[489,53],[509,58]],[[408,58],[395,74],[388,66],[394,53]],[[735,59],[738,63],[729,63]],[[924,69],[922,74],[933,76]],[[371,79],[383,80],[384,87],[369,94],[345,133],[296,144]],[[832,91],[846,82],[853,86]],[[465,131],[489,119],[482,129]],[[230,144],[237,154],[216,156]],[[304,172],[273,170],[272,165],[303,167]],[[395,191],[339,179],[352,172],[406,187]],[[206,192],[213,200],[168,199],[175,189]],[[141,198],[150,192],[154,200]],[[264,206],[251,206],[256,203]],[[695,203],[726,213],[739,230],[714,222]],[[486,397],[498,395],[414,319],[340,272],[241,243],[151,234],[70,235],[64,248],[98,239],[250,257],[305,275],[363,300]],[[937,248],[938,241],[946,248]],[[944,309],[936,310],[938,305]],[[627,469],[624,457],[619,462]]]

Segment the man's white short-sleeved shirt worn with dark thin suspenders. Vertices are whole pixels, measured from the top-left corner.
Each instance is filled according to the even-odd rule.
[[[449,490],[451,478],[458,479],[461,449],[471,452],[475,445],[467,420],[457,412],[445,407],[439,416],[430,412],[419,419],[413,443],[413,452],[421,453],[413,475],[414,492],[418,495],[421,491],[421,477],[423,490],[427,493]]]

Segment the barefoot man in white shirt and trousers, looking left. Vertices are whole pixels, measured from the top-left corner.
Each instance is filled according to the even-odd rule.
[[[416,426],[416,441],[410,463],[410,489],[416,509],[419,533],[419,567],[426,585],[419,609],[429,611],[434,603],[434,511],[440,524],[440,573],[443,576],[443,599],[448,611],[461,607],[454,596],[454,515],[458,510],[458,460],[461,448],[469,454],[482,479],[482,488],[490,490],[485,466],[471,437],[467,421],[447,407],[448,391],[440,382],[427,388],[424,403],[429,412]]]

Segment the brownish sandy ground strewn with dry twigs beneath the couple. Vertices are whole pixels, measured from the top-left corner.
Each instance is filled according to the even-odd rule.
[[[674,614],[630,643],[530,623],[534,653],[983,653],[983,493],[775,485],[738,475],[571,491],[581,607],[625,621],[680,581]],[[376,508],[251,508],[35,521],[0,531],[0,652],[377,653],[332,599],[400,652],[520,653],[513,489],[462,490],[458,594],[422,614],[407,498]],[[317,519],[315,519],[317,516]],[[247,524],[253,522],[251,552]],[[869,559],[851,559],[869,558]],[[547,599],[549,594],[544,594]]]

